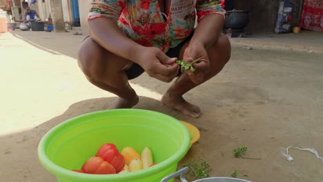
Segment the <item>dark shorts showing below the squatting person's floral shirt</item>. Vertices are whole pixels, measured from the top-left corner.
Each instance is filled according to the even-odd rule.
[[[194,31],[182,43],[179,43],[179,45],[177,45],[175,48],[170,48],[166,52],[166,55],[168,57],[177,57],[178,58],[179,53],[181,52],[184,44],[186,42],[190,41],[190,39],[192,39],[193,34],[194,34]],[[87,39],[88,37],[86,37],[85,39]],[[135,79],[135,78],[139,77],[141,74],[143,74],[144,72],[145,72],[145,70],[143,68],[141,68],[141,66],[138,65],[137,63],[133,63],[133,65],[128,70],[126,70],[126,74],[127,74],[128,79]],[[178,76],[179,76],[179,74],[181,74],[180,70],[179,70]]]

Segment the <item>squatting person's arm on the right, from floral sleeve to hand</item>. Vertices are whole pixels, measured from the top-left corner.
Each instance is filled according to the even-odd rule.
[[[195,72],[186,71],[188,77],[196,83],[202,83],[204,75],[210,70],[207,50],[213,45],[221,34],[224,24],[225,10],[222,8],[221,0],[206,1],[197,0],[197,28],[186,50],[184,51],[185,61],[194,61]]]

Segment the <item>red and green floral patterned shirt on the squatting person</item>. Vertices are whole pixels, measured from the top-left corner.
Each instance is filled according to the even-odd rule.
[[[166,52],[193,32],[195,16],[224,17],[224,0],[171,0],[168,15],[159,10],[158,0],[90,0],[88,20],[107,18],[118,23],[131,39],[146,47]],[[195,11],[196,10],[196,11]]]

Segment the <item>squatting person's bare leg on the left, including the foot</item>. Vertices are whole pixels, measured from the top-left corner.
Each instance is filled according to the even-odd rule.
[[[79,49],[78,63],[90,83],[119,97],[110,109],[132,108],[138,103],[139,97],[129,85],[125,72],[132,61],[108,52],[88,38]]]

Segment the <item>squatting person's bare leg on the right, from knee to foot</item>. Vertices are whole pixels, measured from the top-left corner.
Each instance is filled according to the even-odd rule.
[[[189,42],[185,43],[179,59],[183,59],[184,50],[188,47]],[[203,82],[207,81],[219,73],[231,56],[231,44],[228,38],[222,34],[219,40],[207,50],[210,59],[210,72],[204,77]],[[193,83],[187,74],[182,74],[175,83],[168,88],[161,99],[161,103],[188,115],[189,117],[198,118],[202,115],[201,110],[196,105],[188,103],[183,98],[183,94],[195,88],[197,84]]]

